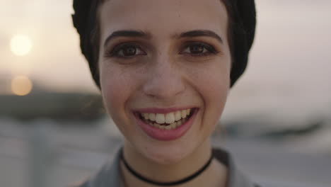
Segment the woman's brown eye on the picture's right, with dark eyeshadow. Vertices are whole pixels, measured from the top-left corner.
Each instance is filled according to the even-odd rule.
[[[184,45],[181,55],[190,55],[192,57],[205,57],[219,53],[215,47],[204,42],[190,42]]]

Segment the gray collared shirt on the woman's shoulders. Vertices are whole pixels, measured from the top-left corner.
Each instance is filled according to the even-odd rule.
[[[233,162],[230,154],[222,149],[213,149],[213,154],[219,162],[228,168],[227,187],[257,187],[247,176],[243,175]],[[78,187],[122,187],[120,175],[120,150],[117,151],[112,162],[106,163],[91,179]]]

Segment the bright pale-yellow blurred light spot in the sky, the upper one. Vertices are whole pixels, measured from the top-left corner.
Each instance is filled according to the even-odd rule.
[[[18,56],[28,55],[32,42],[26,35],[15,35],[11,38],[11,52]]]

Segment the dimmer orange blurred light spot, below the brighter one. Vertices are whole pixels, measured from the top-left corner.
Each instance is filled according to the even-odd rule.
[[[18,76],[11,80],[11,91],[18,96],[26,96],[33,89],[33,83],[28,77]]]

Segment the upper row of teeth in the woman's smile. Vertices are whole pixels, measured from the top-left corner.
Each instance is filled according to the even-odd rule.
[[[175,111],[173,113],[142,113],[142,117],[145,120],[156,121],[156,123],[163,124],[171,124],[175,121],[181,120],[182,118],[186,118],[187,115],[190,115],[191,109],[186,109],[182,111]]]

